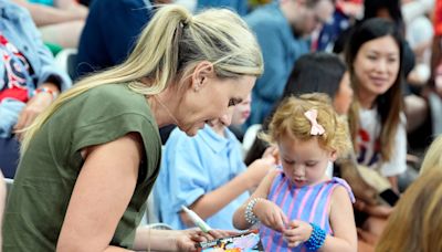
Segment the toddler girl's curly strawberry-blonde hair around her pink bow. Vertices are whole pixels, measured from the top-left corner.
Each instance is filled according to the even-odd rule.
[[[309,109],[317,109],[317,122],[325,129],[323,135],[311,134],[312,124],[304,115]],[[337,115],[330,98],[322,93],[284,99],[272,117],[269,133],[260,135],[270,143],[278,141],[287,136],[299,140],[316,137],[324,149],[336,150],[339,156],[347,155],[351,150],[347,123]]]

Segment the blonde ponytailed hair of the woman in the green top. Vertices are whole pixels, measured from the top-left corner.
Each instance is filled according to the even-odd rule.
[[[35,132],[56,109],[91,88],[122,83],[129,85],[134,92],[155,95],[171,83],[182,83],[202,61],[211,62],[220,78],[259,76],[263,72],[256,39],[238,14],[225,9],[212,9],[192,15],[186,8],[164,6],[143,30],[127,60],[81,80],[63,93],[27,128],[21,149],[27,149]],[[141,83],[144,77],[151,83]]]

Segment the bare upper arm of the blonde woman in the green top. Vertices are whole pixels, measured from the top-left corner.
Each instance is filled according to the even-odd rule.
[[[70,199],[56,251],[126,251],[109,243],[133,197],[143,150],[140,136],[130,133],[82,151],[85,162]]]

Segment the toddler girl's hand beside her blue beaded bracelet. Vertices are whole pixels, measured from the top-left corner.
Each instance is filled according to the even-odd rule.
[[[294,248],[307,241],[312,232],[313,228],[309,223],[301,220],[292,220],[288,222],[287,229],[284,230],[283,235],[288,246]]]

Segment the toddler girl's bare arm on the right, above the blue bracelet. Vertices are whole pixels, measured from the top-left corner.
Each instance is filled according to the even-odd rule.
[[[330,225],[334,237],[327,235],[320,251],[357,251],[357,233],[352,206],[344,187],[332,195]]]

